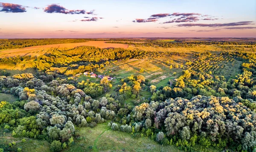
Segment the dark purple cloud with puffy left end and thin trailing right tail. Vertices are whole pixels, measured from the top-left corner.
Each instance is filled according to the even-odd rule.
[[[48,5],[44,8],[46,13],[62,13],[62,14],[93,14],[93,11],[86,12],[84,9],[82,10],[68,10],[63,6],[59,6],[57,4]]]

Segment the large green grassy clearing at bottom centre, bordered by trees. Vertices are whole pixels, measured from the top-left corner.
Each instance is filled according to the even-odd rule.
[[[175,146],[161,146],[150,138],[132,138],[131,134],[112,131],[108,123],[95,128],[82,128],[79,133],[82,140],[64,152],[182,152]]]

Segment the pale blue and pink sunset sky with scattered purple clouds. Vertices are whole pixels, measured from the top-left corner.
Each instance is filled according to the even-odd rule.
[[[256,0],[5,0],[0,38],[256,37]]]

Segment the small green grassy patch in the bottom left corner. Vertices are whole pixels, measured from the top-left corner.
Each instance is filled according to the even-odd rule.
[[[26,141],[22,142],[23,138],[13,138],[11,135],[0,137],[0,148],[4,149],[4,152],[17,152],[17,148],[21,148],[21,152],[50,152],[49,143],[47,141],[38,141],[34,139],[24,138]],[[12,147],[9,146],[9,143]]]

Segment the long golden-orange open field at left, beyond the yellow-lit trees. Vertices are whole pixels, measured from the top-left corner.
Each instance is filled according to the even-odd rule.
[[[3,57],[14,57],[17,55],[20,56],[39,56],[42,54],[49,53],[48,49],[50,48],[59,48],[59,49],[73,49],[76,46],[95,46],[99,48],[128,48],[127,44],[116,44],[116,43],[105,43],[107,41],[88,41],[82,43],[64,43],[64,44],[51,44],[44,46],[31,46],[22,49],[6,49],[0,50],[0,58]]]

